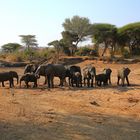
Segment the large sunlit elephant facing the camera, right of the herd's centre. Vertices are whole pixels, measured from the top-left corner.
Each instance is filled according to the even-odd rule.
[[[94,66],[86,66],[83,69],[84,86],[93,87],[93,81],[96,75],[96,68]]]

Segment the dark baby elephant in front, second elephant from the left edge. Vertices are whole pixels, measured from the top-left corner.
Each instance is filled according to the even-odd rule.
[[[21,87],[21,82],[25,81],[26,87],[28,88],[29,82],[34,82],[34,86],[33,87],[37,87],[37,77],[35,76],[35,74],[31,74],[31,73],[26,73],[24,74],[21,78],[20,78],[20,87]]]

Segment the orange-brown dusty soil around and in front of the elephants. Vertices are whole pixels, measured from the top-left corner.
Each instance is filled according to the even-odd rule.
[[[97,73],[112,69],[112,85],[96,88],[58,87],[47,89],[44,79],[36,89],[16,85],[0,87],[1,140],[139,140],[140,139],[140,64],[93,64]],[[128,66],[130,87],[116,85],[117,70]],[[21,76],[23,68],[15,70]],[[16,81],[15,81],[16,83]]]

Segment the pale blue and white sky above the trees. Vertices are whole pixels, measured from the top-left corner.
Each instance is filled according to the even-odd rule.
[[[0,46],[36,35],[39,46],[61,39],[66,18],[121,27],[140,21],[140,0],[0,0]]]

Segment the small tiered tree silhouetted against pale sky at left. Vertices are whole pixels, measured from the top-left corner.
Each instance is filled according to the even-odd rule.
[[[35,38],[35,35],[20,35],[21,42],[25,45],[27,50],[30,50],[30,47],[37,47],[37,40]]]

